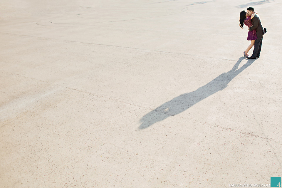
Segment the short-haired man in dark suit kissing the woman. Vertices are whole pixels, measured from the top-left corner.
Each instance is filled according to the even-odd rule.
[[[254,8],[249,7],[247,9],[247,12],[249,16],[251,16],[254,13]],[[259,58],[259,54],[261,53],[262,38],[263,35],[266,33],[266,28],[263,28],[263,26],[261,25],[261,19],[259,19],[258,15],[254,16],[254,18],[252,19],[252,24],[253,25],[249,28],[249,30],[256,30],[256,36],[258,39],[255,40],[253,55],[251,57],[248,57],[248,59]]]

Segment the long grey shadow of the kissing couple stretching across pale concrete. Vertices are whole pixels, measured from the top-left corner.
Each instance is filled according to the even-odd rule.
[[[145,129],[156,122],[166,119],[169,116],[182,113],[199,101],[220,90],[223,90],[233,78],[235,78],[239,73],[241,73],[255,61],[255,59],[248,59],[248,61],[238,69],[239,64],[244,59],[244,57],[239,58],[231,70],[229,70],[227,73],[222,73],[206,85],[203,85],[202,87],[190,93],[179,95],[147,113],[140,119],[140,123],[142,124],[138,127],[138,129]]]

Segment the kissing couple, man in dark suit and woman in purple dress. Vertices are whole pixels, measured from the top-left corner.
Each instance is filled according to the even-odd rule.
[[[261,25],[261,19],[257,12],[254,11],[254,8],[249,7],[246,11],[241,11],[240,13],[240,27],[243,28],[244,24],[248,26],[248,41],[251,41],[251,44],[244,51],[244,57],[248,59],[259,58],[261,53],[261,44],[263,35],[266,33],[266,28],[263,28]],[[249,50],[254,47],[253,55],[248,56]]]

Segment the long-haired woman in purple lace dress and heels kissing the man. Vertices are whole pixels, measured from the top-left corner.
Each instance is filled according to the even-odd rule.
[[[242,11],[240,12],[240,27],[243,28],[244,24],[248,27],[251,27],[253,24],[252,24],[252,20],[254,18],[254,16],[258,14],[256,12],[254,12],[254,14],[252,14],[251,16],[248,15],[248,13],[246,11]],[[251,41],[251,44],[248,46],[248,48],[244,51],[244,57],[249,57],[248,56],[248,52],[249,50],[254,46],[255,44],[255,40],[258,39],[257,36],[256,36],[256,30],[254,29],[253,31],[249,31],[248,33],[248,38],[247,40],[248,41]]]

